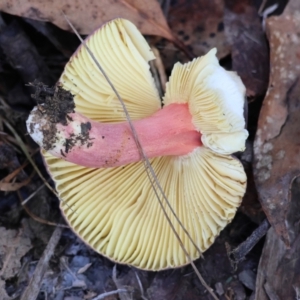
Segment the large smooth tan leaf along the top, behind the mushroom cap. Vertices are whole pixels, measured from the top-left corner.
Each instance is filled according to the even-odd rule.
[[[0,10],[39,21],[49,21],[70,30],[62,12],[81,34],[90,34],[114,18],[132,21],[143,34],[159,35],[173,40],[157,0],[53,0],[0,2]]]

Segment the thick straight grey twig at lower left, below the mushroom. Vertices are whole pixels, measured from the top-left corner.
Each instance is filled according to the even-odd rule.
[[[20,300],[35,300],[37,298],[40,292],[45,272],[48,268],[49,260],[54,253],[56,245],[61,237],[61,233],[62,229],[60,227],[56,227],[53,231],[49,243],[36,266],[36,269],[29,282],[29,285],[27,286]]]

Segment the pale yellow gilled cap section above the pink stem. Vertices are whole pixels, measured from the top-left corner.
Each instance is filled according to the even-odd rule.
[[[116,19],[96,30],[86,43],[122,96],[131,119],[161,108],[148,64],[155,56],[135,25]],[[59,84],[75,95],[76,112],[99,122],[126,120],[115,93],[82,45],[66,65]]]

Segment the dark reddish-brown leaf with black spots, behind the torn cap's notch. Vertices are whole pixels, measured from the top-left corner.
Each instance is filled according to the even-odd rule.
[[[230,53],[223,24],[223,0],[178,0],[171,1],[168,12],[168,24],[174,36],[182,41],[194,55],[206,54],[211,48],[218,49],[218,57]],[[170,70],[177,61],[186,61],[185,57],[168,41],[153,41],[163,57],[164,64]]]

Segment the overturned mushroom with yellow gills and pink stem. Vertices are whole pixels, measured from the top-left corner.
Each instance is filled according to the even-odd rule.
[[[86,43],[121,95],[176,215],[205,251],[232,220],[245,193],[244,169],[231,155],[244,150],[248,136],[240,78],[220,67],[212,49],[174,66],[162,107],[148,65],[155,57],[131,22],[106,23]],[[40,104],[27,128],[44,148],[70,227],[119,263],[146,270],[188,264],[122,107],[85,47],[66,65],[57,93],[62,89],[74,95],[75,111],[66,111],[58,122]],[[164,206],[191,259],[197,259],[199,252]]]

